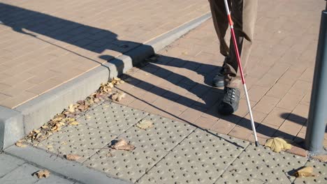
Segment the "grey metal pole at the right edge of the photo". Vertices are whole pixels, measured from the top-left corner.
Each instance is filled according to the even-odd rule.
[[[327,8],[327,6],[326,6]],[[324,134],[327,123],[327,9],[322,12],[319,43],[314,81],[310,102],[310,112],[305,135],[305,147],[313,155],[325,153]]]

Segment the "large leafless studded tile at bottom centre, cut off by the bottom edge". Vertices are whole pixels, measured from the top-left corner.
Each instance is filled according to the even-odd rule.
[[[182,155],[169,153],[137,183],[215,183],[224,170]]]

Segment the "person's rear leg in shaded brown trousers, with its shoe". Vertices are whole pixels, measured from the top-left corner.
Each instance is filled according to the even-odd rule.
[[[222,0],[209,0],[210,9],[212,14],[212,21],[215,25],[215,30],[220,43],[220,53],[225,56],[224,65],[227,61],[229,54],[229,47],[227,45],[226,31],[228,29],[228,20],[224,1]],[[228,0],[231,3],[231,0]],[[212,85],[215,87],[224,86],[224,65],[221,70],[212,79]]]

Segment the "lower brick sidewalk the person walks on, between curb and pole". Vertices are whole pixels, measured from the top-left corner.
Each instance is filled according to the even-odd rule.
[[[310,104],[317,38],[324,1],[259,1],[247,86],[259,141],[285,137],[301,141]],[[119,89],[122,104],[177,121],[252,140],[243,96],[233,116],[217,114],[222,89],[212,77],[222,65],[212,20],[191,31],[159,59],[134,68]],[[327,134],[324,145],[327,146]]]

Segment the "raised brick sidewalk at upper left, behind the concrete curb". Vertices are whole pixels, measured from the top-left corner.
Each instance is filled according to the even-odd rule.
[[[208,1],[0,1],[0,105],[14,108],[185,22]]]

